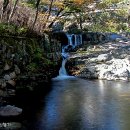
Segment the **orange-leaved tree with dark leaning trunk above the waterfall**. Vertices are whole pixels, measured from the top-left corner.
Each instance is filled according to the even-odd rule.
[[[46,28],[51,28],[54,22],[64,15],[74,15],[77,20],[77,23],[82,29],[84,4],[92,3],[93,0],[51,0],[50,4],[48,1],[45,0],[42,0],[42,2],[43,4],[48,5],[45,25],[52,21],[48,26],[46,26]],[[51,20],[49,18],[53,10],[55,10],[55,17]]]

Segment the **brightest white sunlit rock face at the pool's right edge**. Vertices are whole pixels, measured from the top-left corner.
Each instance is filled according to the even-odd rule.
[[[96,68],[99,79],[128,80],[130,78],[130,64],[127,59],[112,59],[109,64],[100,64]]]

